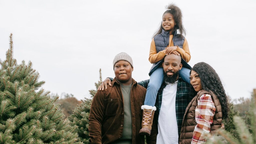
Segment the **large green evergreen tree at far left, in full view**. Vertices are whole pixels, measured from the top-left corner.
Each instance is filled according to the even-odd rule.
[[[12,34],[9,41],[6,60],[0,59],[0,143],[78,143],[77,127],[55,104],[58,97],[39,89],[45,81],[38,81],[31,61],[17,64]]]

